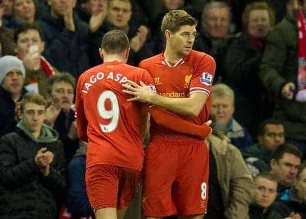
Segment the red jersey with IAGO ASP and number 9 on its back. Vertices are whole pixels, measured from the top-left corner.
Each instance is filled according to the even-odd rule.
[[[88,137],[86,166],[110,164],[140,170],[143,161],[139,102],[126,102],[122,83],[154,82],[144,69],[106,62],[85,71],[78,80],[75,111],[81,139]],[[87,132],[86,132],[87,130]],[[87,136],[86,136],[87,135]]]

